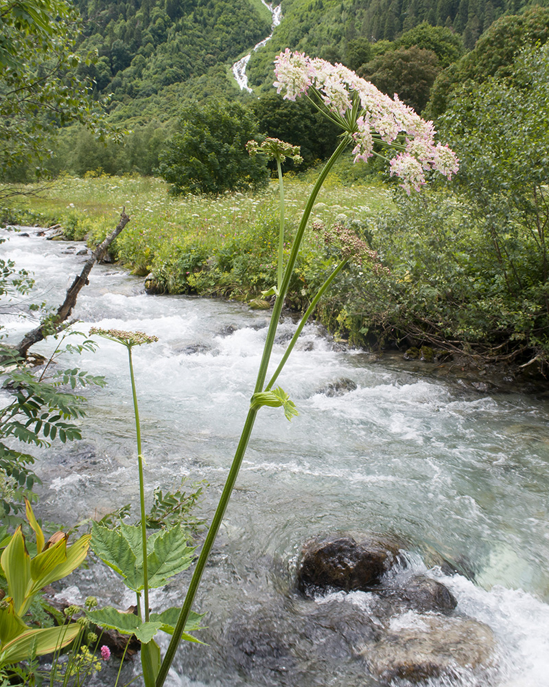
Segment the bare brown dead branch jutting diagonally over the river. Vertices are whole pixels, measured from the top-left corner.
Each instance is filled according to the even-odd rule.
[[[120,221],[117,224],[117,227],[113,231],[113,233],[107,236],[103,243],[100,243],[100,245],[97,246],[95,251],[93,251],[89,260],[86,260],[86,263],[84,264],[84,269],[82,269],[80,275],[78,275],[78,277],[75,278],[71,287],[67,289],[67,297],[65,298],[65,301],[59,306],[58,311],[54,315],[54,317],[49,317],[44,322],[41,322],[40,325],[36,327],[36,329],[33,329],[32,332],[25,334],[22,341],[19,343],[18,346],[16,346],[16,349],[21,355],[21,357],[26,357],[27,351],[31,346],[34,345],[34,343],[42,341],[43,339],[45,339],[45,337],[47,337],[53,332],[58,332],[62,328],[62,323],[70,317],[71,312],[73,311],[73,308],[76,304],[76,298],[78,297],[80,290],[83,286],[89,284],[88,275],[91,272],[91,268],[96,262],[103,258],[110,244],[113,243],[115,238],[120,234],[122,229],[124,229],[124,227],[130,221],[129,216],[126,214],[126,212],[124,212],[125,210],[126,208],[124,207],[120,215]]]

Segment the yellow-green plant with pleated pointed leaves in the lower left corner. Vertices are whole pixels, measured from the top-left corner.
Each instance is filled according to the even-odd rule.
[[[84,534],[69,547],[65,532],[56,532],[45,541],[28,501],[26,512],[36,534],[36,556],[30,557],[19,526],[9,537],[0,559],[8,583],[8,594],[0,601],[0,670],[61,649],[82,629],[77,622],[34,629],[27,626],[24,616],[40,589],[71,574],[84,561],[91,534]]]

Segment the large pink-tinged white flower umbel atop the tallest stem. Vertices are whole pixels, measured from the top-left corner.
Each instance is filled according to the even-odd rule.
[[[419,191],[425,172],[438,172],[451,179],[458,171],[455,153],[448,146],[435,144],[432,122],[423,120],[396,94],[389,98],[344,65],[331,65],[290,49],[279,54],[274,64],[277,92],[288,100],[309,95],[317,106],[323,104],[329,118],[355,142],[355,162],[379,155],[375,142],[392,148],[397,156],[390,160],[390,174],[401,179],[408,194],[412,188]]]

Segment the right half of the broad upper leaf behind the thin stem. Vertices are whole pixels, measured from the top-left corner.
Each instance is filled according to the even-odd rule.
[[[193,559],[194,548],[187,546],[185,530],[179,526],[161,530],[147,556],[149,587],[162,587],[170,577],[187,570]]]

